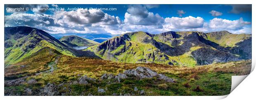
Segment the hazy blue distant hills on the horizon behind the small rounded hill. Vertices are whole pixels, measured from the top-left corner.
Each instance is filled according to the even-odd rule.
[[[96,33],[86,33],[86,34],[81,34],[81,33],[59,33],[59,34],[51,34],[53,37],[56,39],[62,38],[62,36],[70,36],[70,35],[76,35],[80,36],[86,39],[90,39],[99,43],[102,43],[103,41],[106,41],[110,39],[113,36],[117,36],[111,33],[102,33],[102,34],[96,34]]]

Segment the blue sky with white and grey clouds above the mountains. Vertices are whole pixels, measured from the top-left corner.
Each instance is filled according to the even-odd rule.
[[[65,11],[10,11],[7,8],[65,8]],[[116,8],[116,11],[67,8]],[[31,26],[55,33],[227,30],[251,34],[251,5],[5,5],[5,27]]]

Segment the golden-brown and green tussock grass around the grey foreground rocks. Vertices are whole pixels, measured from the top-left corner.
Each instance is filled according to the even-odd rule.
[[[47,62],[52,61],[49,57],[48,55],[48,60],[40,60],[36,63],[29,64],[34,64],[33,66],[36,66],[36,64],[47,64]],[[30,60],[33,62],[32,58]],[[137,66],[148,67],[155,70],[157,73],[171,77],[175,80],[175,83],[167,83],[157,78],[142,80],[127,78],[122,79],[120,83],[111,83],[111,81],[113,81],[112,79],[100,79],[104,73],[117,75],[118,73],[123,73],[124,70],[137,68]],[[62,93],[66,93],[66,95],[88,95],[89,93],[92,95],[112,95],[113,93],[118,95],[120,95],[120,93],[122,95],[125,93],[133,95],[227,95],[231,88],[231,76],[249,74],[251,70],[251,60],[195,67],[179,67],[165,64],[118,63],[102,59],[61,55],[55,67],[56,69],[52,73],[42,73],[37,76],[32,74],[31,77],[28,77],[28,79],[34,78],[38,81],[38,85],[36,86],[25,84],[21,86],[5,87],[5,90],[16,89],[15,91],[22,91],[20,87],[30,87],[33,91],[38,91],[38,89],[45,86],[48,82],[55,84],[70,83],[78,80],[82,75],[87,75],[88,77],[97,79],[97,81],[89,82],[89,84],[86,85],[64,85],[60,86],[58,90]],[[14,73],[18,73],[19,69],[14,69],[14,67],[10,67],[10,69],[5,68],[5,70],[7,70],[5,71],[5,77],[16,76],[17,74]],[[27,69],[26,71],[34,72],[35,69],[38,69],[38,67]],[[9,72],[13,74],[9,74]],[[19,72],[19,75],[24,76],[26,74],[27,73]],[[134,91],[135,86],[139,91],[144,90],[145,94]],[[64,87],[66,89],[64,89]],[[104,89],[106,92],[98,93],[98,87]]]

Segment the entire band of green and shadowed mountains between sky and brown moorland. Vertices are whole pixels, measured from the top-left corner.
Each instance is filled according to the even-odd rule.
[[[5,27],[5,65],[22,61],[43,48],[51,48],[62,55],[72,57],[176,66],[251,59],[251,34],[231,34],[227,31],[171,31],[160,34],[131,32],[114,36],[102,43],[90,39],[71,35],[62,36],[58,40],[47,32],[33,27]],[[75,50],[72,48],[74,46],[90,47]]]

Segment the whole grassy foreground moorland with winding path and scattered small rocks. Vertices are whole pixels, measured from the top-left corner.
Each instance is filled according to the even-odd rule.
[[[38,52],[44,56],[34,55],[5,67],[4,95],[227,95],[231,76],[247,75],[251,70],[251,60],[179,67],[116,63],[52,52]],[[138,66],[165,75],[174,82],[159,77],[119,75]]]

